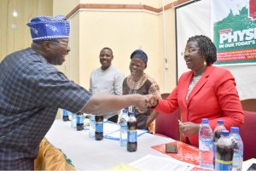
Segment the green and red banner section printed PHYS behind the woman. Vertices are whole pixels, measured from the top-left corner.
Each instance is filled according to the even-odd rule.
[[[213,23],[213,42],[218,52],[215,64],[256,63],[256,20],[247,4],[239,14],[230,9],[223,20]]]

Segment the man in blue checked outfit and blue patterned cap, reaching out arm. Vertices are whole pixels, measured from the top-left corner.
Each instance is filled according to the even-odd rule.
[[[145,109],[152,97],[90,94],[54,66],[70,51],[69,22],[61,15],[38,16],[27,26],[31,48],[9,54],[0,63],[0,170],[34,169],[38,145],[58,108],[104,115],[129,105]]]

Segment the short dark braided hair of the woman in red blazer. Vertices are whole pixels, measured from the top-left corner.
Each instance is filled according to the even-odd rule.
[[[212,43],[212,40],[203,35],[196,35],[194,37],[189,37],[187,43],[194,41],[198,43],[200,54],[205,57],[207,66],[213,64],[217,60],[217,49],[214,43]]]

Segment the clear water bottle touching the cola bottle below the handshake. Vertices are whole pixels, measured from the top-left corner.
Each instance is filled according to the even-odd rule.
[[[127,109],[123,109],[119,127],[120,127],[120,146],[126,147],[127,145],[127,121],[128,121],[128,111]]]

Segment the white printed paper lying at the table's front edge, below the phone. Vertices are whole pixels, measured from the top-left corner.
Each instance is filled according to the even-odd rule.
[[[166,157],[156,157],[153,155],[147,155],[138,159],[135,162],[129,163],[129,165],[139,168],[141,170],[179,170],[179,171],[189,171],[195,167],[195,165],[180,162],[174,158]]]

